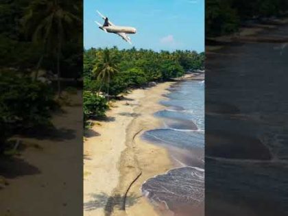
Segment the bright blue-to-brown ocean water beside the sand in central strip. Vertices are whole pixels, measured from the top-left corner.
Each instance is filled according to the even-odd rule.
[[[163,127],[149,130],[143,139],[168,149],[175,169],[148,179],[143,194],[159,208],[176,215],[204,210],[204,81],[189,80],[173,84],[166,108],[154,114]],[[169,215],[164,211],[162,215]],[[162,211],[163,212],[163,211]]]

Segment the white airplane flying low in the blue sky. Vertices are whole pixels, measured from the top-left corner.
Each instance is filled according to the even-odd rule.
[[[101,16],[102,19],[104,19],[103,25],[95,21],[95,23],[99,25],[99,29],[103,30],[106,33],[118,34],[121,38],[123,38],[123,40],[130,43],[130,45],[132,44],[131,38],[127,34],[136,34],[136,29],[134,27],[114,25],[109,21],[108,17],[103,16],[98,10],[97,13],[99,14],[99,16]]]

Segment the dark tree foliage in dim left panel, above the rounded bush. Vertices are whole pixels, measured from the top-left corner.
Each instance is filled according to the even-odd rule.
[[[53,18],[53,19],[52,19]],[[0,5],[0,69],[22,73],[40,68],[57,73],[61,39],[62,77],[82,71],[82,1],[3,0]],[[56,26],[61,26],[61,28]],[[27,71],[29,69],[29,71]]]

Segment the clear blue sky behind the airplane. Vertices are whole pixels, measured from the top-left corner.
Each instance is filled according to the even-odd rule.
[[[99,10],[115,25],[136,27],[129,45],[116,34],[106,34]],[[84,47],[189,49],[204,51],[204,0],[84,0]]]

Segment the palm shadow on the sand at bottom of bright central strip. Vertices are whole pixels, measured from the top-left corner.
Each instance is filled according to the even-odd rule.
[[[84,203],[84,209],[86,211],[93,211],[97,208],[104,208],[105,216],[110,216],[115,208],[121,209],[123,206],[123,195],[113,195],[109,196],[106,193],[91,193],[93,200]],[[138,201],[134,193],[126,197],[125,206],[133,206]]]

